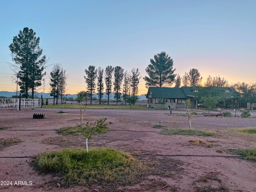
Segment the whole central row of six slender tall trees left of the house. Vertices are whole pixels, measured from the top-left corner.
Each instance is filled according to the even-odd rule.
[[[99,96],[99,104],[101,104],[104,84],[108,96],[108,104],[112,91],[114,91],[116,103],[121,99],[121,93],[123,93],[124,104],[126,104],[130,92],[132,96],[138,94],[138,84],[141,76],[138,68],[132,68],[130,72],[128,72],[128,70],[124,72],[124,69],[120,66],[107,66],[104,71],[101,67],[96,69],[95,66],[90,65],[88,69],[85,70],[84,78],[87,84],[87,93],[90,96],[90,104],[92,104],[92,94],[95,92],[96,87]]]

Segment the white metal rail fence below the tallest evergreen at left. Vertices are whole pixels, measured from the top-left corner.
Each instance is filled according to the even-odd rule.
[[[5,109],[35,108],[41,107],[41,99],[0,99],[0,107]]]

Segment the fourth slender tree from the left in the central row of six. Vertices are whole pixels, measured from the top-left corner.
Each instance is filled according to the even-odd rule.
[[[124,69],[120,66],[116,66],[114,68],[114,92],[116,98],[116,104],[118,103],[118,99],[121,98],[121,86],[122,86],[122,80],[124,76]]]

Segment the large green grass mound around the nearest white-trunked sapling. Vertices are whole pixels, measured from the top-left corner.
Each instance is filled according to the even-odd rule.
[[[60,174],[62,186],[139,182],[150,169],[126,152],[110,148],[63,149],[44,152],[32,162],[43,173]]]

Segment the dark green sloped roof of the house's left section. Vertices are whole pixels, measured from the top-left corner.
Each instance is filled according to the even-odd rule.
[[[152,98],[188,98],[183,89],[179,87],[149,87],[146,98],[149,94]]]

